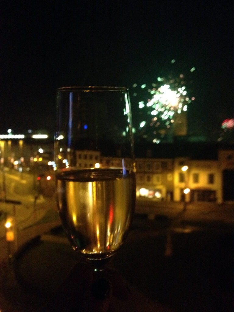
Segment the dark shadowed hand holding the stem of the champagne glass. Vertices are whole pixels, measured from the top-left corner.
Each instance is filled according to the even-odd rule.
[[[125,280],[117,271],[107,268],[95,273],[88,265],[78,263],[43,312],[114,312],[112,296],[118,300],[131,298]]]

